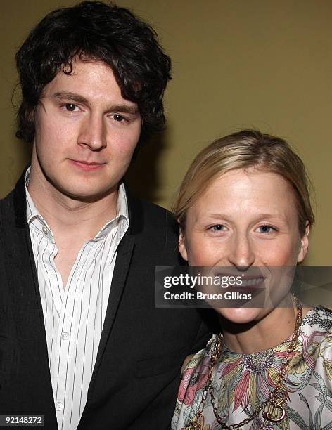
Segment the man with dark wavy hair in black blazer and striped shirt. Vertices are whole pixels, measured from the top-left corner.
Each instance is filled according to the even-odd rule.
[[[49,13],[16,56],[31,166],[0,204],[0,415],[47,430],[167,429],[196,309],[154,305],[179,264],[172,216],[130,195],[136,145],[164,123],[170,58],[125,8]]]

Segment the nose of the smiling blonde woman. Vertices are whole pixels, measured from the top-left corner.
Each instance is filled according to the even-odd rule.
[[[236,266],[238,271],[245,271],[253,265],[255,252],[250,237],[246,234],[237,234],[230,244],[229,263]]]

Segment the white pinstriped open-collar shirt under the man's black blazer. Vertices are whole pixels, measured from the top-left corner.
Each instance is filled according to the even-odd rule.
[[[28,181],[29,170],[26,186]],[[53,233],[28,191],[27,223],[44,313],[58,429],[75,430],[96,362],[117,246],[129,226],[125,187],[119,187],[117,216],[84,243],[65,288],[54,261],[58,249]]]

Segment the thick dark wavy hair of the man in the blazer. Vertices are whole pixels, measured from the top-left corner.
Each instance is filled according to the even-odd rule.
[[[72,73],[72,60],[101,60],[111,67],[122,96],[137,103],[142,134],[165,124],[162,96],[171,61],[149,25],[126,8],[100,1],[82,1],[46,15],[20,47],[16,64],[23,100],[16,136],[34,139],[34,108],[58,72]]]

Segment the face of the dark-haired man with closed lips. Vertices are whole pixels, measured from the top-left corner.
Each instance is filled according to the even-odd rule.
[[[141,133],[136,103],[108,65],[73,62],[47,84],[35,112],[31,174],[51,192],[98,200],[117,188]]]

